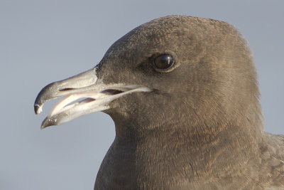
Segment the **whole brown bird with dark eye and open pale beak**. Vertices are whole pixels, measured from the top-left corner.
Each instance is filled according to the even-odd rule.
[[[229,23],[143,23],[94,68],[46,85],[35,114],[58,97],[42,129],[99,111],[114,120],[94,189],[284,189],[284,135],[263,131],[253,56]]]

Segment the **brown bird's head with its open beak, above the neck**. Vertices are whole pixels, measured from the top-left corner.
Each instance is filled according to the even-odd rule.
[[[58,97],[42,128],[98,111],[141,129],[188,120],[187,130],[204,132],[248,121],[259,128],[251,52],[233,26],[212,19],[165,16],[134,28],[94,68],[45,86],[35,113]]]

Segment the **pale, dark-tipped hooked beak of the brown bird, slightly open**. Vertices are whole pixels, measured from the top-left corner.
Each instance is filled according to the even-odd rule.
[[[82,115],[108,110],[109,102],[134,92],[150,92],[141,85],[110,84],[99,81],[96,68],[65,80],[46,85],[35,99],[35,114],[38,115],[48,100],[62,97],[45,117],[41,129],[51,125],[60,125]],[[80,99],[80,100],[79,100]],[[76,102],[77,100],[77,102]]]

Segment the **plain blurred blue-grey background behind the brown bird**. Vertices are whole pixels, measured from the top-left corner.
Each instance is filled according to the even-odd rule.
[[[265,130],[284,134],[284,1],[0,0],[0,189],[92,189],[114,140],[97,112],[40,130],[55,101],[35,116],[41,88],[94,67],[136,26],[185,14],[228,21],[249,41]]]

